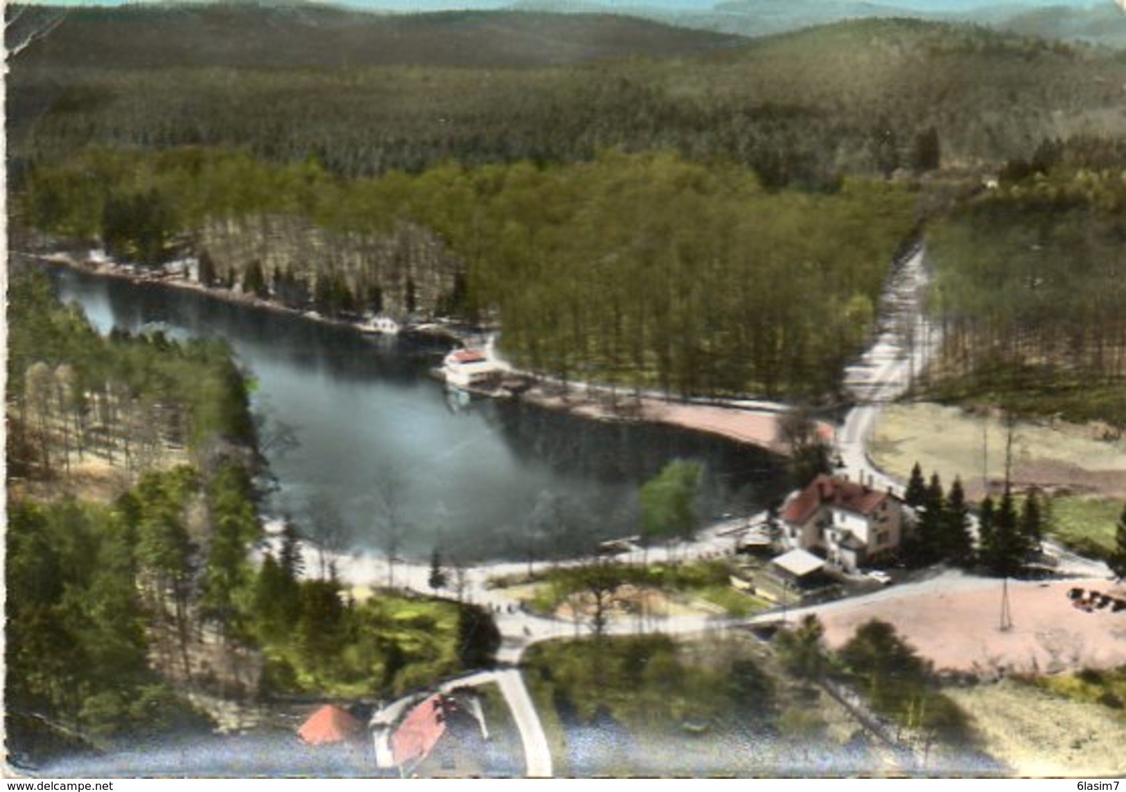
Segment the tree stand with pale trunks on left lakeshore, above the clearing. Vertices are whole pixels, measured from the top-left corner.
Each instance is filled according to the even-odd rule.
[[[138,471],[169,452],[213,464],[253,446],[224,342],[100,336],[34,270],[12,272],[8,298],[9,480],[65,476],[88,458]]]

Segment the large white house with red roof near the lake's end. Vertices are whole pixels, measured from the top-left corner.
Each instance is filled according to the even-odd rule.
[[[790,494],[779,518],[788,547],[820,550],[847,572],[899,549],[905,526],[903,503],[890,492],[826,474]]]

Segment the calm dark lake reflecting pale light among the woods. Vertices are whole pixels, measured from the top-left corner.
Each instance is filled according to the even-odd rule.
[[[402,552],[483,560],[566,555],[637,532],[637,488],[674,458],[706,465],[704,516],[781,493],[777,458],[722,438],[607,423],[518,402],[461,404],[429,371],[446,348],[367,336],[207,295],[51,268],[60,297],[102,332],[160,323],[221,336],[259,382],[253,407],[297,443],[268,452],[267,511],[306,530],[332,512],[355,550],[381,547],[395,502]]]

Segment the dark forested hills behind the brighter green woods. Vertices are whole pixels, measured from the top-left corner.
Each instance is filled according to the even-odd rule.
[[[10,58],[17,173],[90,146],[312,156],[349,178],[671,148],[820,187],[924,168],[912,163],[936,135],[960,168],[1126,130],[1121,51],[973,25],[858,19],[749,39],[606,15],[28,8],[17,25],[47,33]]]

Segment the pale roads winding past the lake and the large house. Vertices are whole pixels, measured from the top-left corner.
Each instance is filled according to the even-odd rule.
[[[848,366],[844,371],[844,388],[852,397],[855,406],[848,412],[837,432],[837,452],[842,462],[841,472],[874,488],[886,488],[896,494],[902,494],[903,483],[876,468],[868,454],[868,448],[883,406],[901,398],[910,390],[914,379],[923,371],[941,343],[939,328],[927,317],[924,300],[928,281],[926,249],[919,245],[902,259],[891,273],[878,312],[879,335],[860,359]],[[740,406],[751,412],[776,412],[779,408],[779,405],[771,403],[752,402],[732,406]],[[734,551],[734,541],[730,536],[732,530],[745,524],[745,519],[717,523],[700,531],[695,541],[681,544],[679,548],[651,548],[645,552],[638,549],[617,558],[625,562],[641,564],[669,560],[673,557],[686,560],[730,555]],[[1099,577],[1105,577],[1109,572],[1101,562],[1090,561],[1054,547],[1051,550],[1061,562],[1061,572]],[[570,564],[583,562],[586,559]],[[382,559],[350,557],[338,559],[338,564],[343,579],[354,582],[386,579],[386,562]],[[498,684],[520,732],[526,774],[530,777],[549,777],[553,773],[551,752],[539,716],[524,683],[519,668],[520,659],[524,651],[533,644],[583,634],[588,628],[586,624],[526,613],[503,590],[490,586],[492,578],[525,572],[524,564],[492,564],[465,570],[463,595],[470,602],[490,609],[501,632],[502,645],[497,658],[499,667],[449,681],[444,687]],[[402,562],[395,566],[395,579],[408,588],[427,592],[428,578],[427,565]],[[792,615],[864,606],[866,603],[927,593],[937,594],[995,585],[995,579],[977,578],[962,573],[944,573],[931,579],[896,586],[892,591],[882,590],[860,597],[793,611]],[[686,634],[745,628],[748,624],[777,620],[778,614],[775,612],[763,613],[750,620],[699,614],[651,618],[645,621],[619,619],[611,620],[606,631],[609,634],[636,634],[646,631]]]

